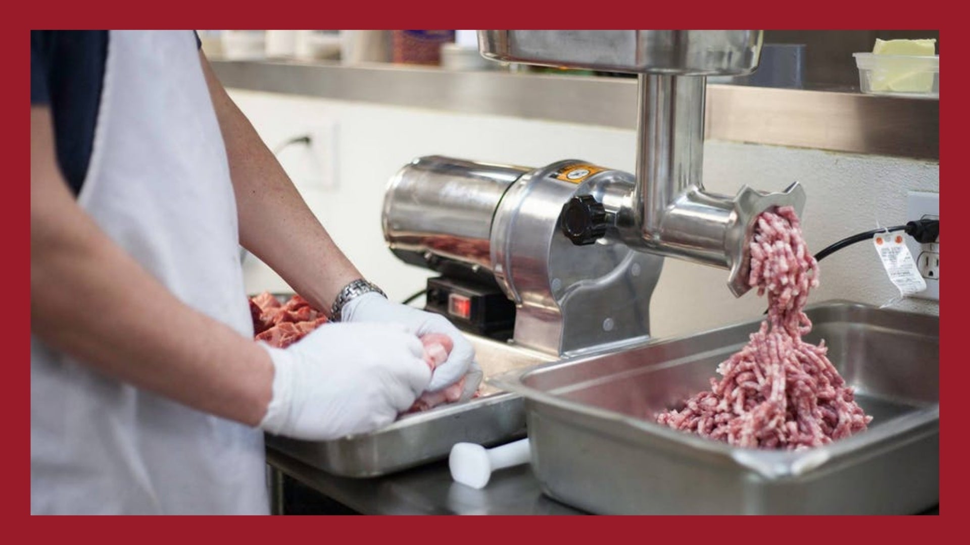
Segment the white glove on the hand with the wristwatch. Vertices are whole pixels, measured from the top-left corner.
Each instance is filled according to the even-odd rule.
[[[344,323],[390,322],[404,324],[418,337],[442,334],[451,338],[454,346],[447,361],[435,368],[429,392],[437,392],[465,378],[462,400],[468,400],[478,390],[482,370],[475,363],[475,351],[469,339],[444,316],[425,312],[413,306],[392,303],[376,293],[366,293],[343,305],[340,320]]]

